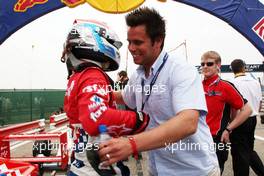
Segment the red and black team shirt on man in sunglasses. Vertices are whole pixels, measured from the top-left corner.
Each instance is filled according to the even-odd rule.
[[[218,75],[203,80],[203,88],[208,108],[206,122],[214,137],[227,126],[230,108],[241,109],[247,100],[232,83],[220,79]]]

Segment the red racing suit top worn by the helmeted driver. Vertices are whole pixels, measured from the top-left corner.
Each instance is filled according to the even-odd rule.
[[[116,110],[109,78],[99,68],[74,73],[68,82],[64,109],[70,124],[82,124],[91,136],[104,124],[112,136],[130,134],[136,123],[133,111]]]

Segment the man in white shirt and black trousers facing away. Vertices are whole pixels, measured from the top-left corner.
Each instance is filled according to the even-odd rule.
[[[234,175],[249,175],[249,166],[257,175],[264,175],[264,166],[256,151],[254,151],[254,134],[257,124],[257,115],[262,100],[260,83],[246,75],[246,64],[241,59],[231,62],[235,78],[232,83],[248,100],[252,113],[249,118],[231,134],[231,154]]]

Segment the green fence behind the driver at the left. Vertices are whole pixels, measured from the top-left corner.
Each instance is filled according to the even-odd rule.
[[[47,119],[63,107],[64,94],[60,89],[0,89],[0,125]]]

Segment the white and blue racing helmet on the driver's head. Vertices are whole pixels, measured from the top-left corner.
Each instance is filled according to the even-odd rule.
[[[67,64],[69,74],[87,62],[104,64],[104,71],[114,71],[119,67],[121,46],[122,42],[106,23],[75,20],[64,43],[61,61]]]

